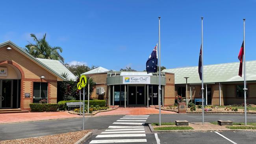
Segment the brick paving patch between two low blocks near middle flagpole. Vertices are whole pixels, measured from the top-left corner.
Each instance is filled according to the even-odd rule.
[[[202,122],[192,122],[189,123],[190,127],[193,127],[195,130],[220,130],[220,129],[228,129],[224,126],[219,126],[215,124],[211,124],[210,122],[205,122],[204,125],[202,125]]]

